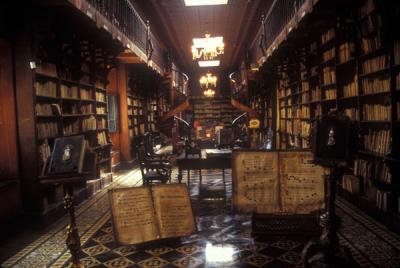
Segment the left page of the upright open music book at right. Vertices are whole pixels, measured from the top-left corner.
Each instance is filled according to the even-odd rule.
[[[278,155],[233,154],[233,205],[240,212],[274,213],[279,209]]]

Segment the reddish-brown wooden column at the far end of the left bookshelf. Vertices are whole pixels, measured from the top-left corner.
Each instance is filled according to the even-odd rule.
[[[132,162],[131,156],[131,138],[129,137],[129,124],[128,124],[128,85],[126,64],[120,63],[117,69],[117,85],[119,92],[119,116],[120,116],[120,148],[121,160],[125,166]]]

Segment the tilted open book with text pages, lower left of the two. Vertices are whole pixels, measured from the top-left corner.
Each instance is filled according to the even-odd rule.
[[[184,184],[115,188],[109,191],[109,198],[118,244],[183,237],[196,230]]]

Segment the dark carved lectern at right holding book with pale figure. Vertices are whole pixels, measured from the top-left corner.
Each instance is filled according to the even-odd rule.
[[[303,250],[305,267],[350,267],[350,251],[339,244],[336,215],[336,186],[343,169],[348,166],[356,148],[356,131],[350,118],[339,112],[322,117],[313,125],[312,149],[314,163],[329,168],[326,176],[328,198],[326,212],[321,216],[323,232],[319,240],[311,241]]]

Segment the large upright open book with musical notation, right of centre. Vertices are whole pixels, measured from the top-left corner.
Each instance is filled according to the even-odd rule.
[[[324,170],[311,160],[310,152],[234,152],[234,208],[266,214],[308,214],[323,209]]]

